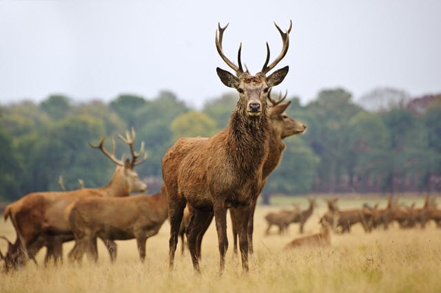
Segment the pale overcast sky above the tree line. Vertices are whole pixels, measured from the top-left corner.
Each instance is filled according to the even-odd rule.
[[[441,1],[12,1],[0,0],[0,103],[65,94],[74,101],[147,99],[170,90],[187,105],[229,92],[214,45],[253,74],[293,22],[289,73],[277,90],[302,103],[323,88],[358,99],[378,87],[441,92]]]

